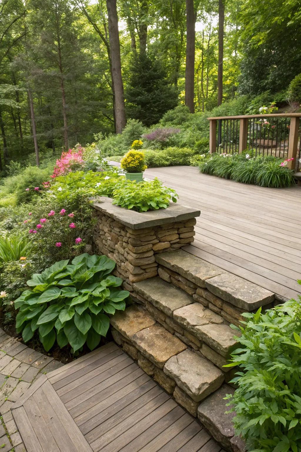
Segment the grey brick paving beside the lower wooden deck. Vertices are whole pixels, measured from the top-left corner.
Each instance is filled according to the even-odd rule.
[[[0,451],[26,452],[10,409],[39,377],[63,366],[0,328]]]

